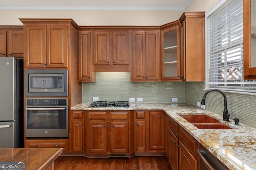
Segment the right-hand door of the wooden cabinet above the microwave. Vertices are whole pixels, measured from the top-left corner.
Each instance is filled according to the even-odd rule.
[[[47,25],[46,26],[46,65],[48,68],[68,67],[68,26]]]

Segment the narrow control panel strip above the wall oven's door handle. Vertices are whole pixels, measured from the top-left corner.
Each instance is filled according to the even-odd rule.
[[[68,99],[26,99],[26,106],[68,106]]]

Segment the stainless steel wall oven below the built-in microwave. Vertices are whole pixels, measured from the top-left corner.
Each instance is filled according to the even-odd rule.
[[[67,138],[68,99],[26,99],[25,137]]]

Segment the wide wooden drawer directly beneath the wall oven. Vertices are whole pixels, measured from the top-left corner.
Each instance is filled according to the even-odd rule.
[[[63,148],[68,151],[68,139],[60,140],[26,140],[26,148]]]

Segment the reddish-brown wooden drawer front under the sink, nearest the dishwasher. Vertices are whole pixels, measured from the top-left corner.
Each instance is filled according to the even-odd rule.
[[[188,132],[183,128],[179,129],[179,139],[186,145],[186,147],[192,152],[195,156],[197,155],[197,141],[192,137]]]

